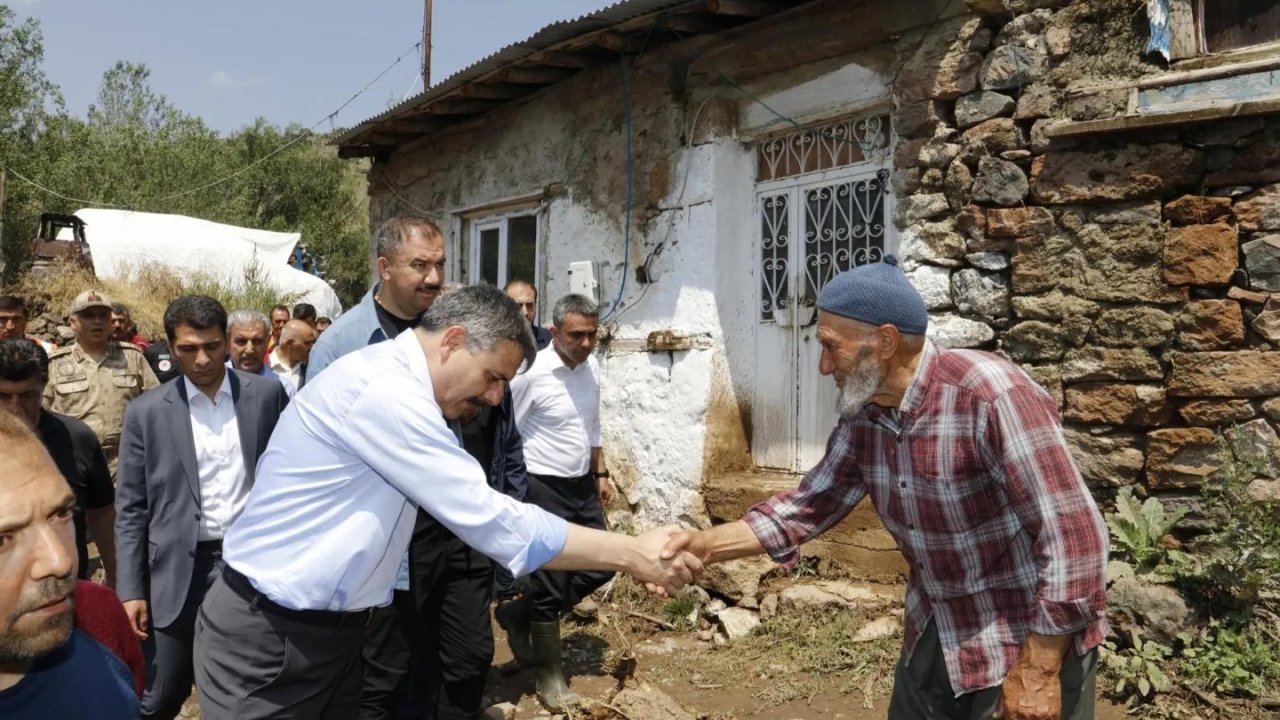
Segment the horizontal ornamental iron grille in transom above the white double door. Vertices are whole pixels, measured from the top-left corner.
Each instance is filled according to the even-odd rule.
[[[756,143],[756,182],[867,161],[888,147],[888,115],[849,118]]]

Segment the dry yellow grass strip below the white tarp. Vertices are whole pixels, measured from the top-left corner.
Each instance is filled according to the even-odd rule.
[[[178,275],[160,264],[140,265],[114,281],[97,279],[74,265],[60,265],[38,278],[24,275],[9,292],[26,297],[32,314],[61,316],[72,300],[90,288],[101,290],[114,302],[127,305],[138,331],[147,337],[164,333],[164,310],[169,301],[183,295],[215,297],[228,313],[241,307],[266,313],[273,305],[292,305],[297,301],[297,296],[282,293],[261,281],[237,286],[207,273]]]

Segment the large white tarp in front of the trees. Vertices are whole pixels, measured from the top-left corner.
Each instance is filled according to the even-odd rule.
[[[288,264],[301,233],[131,210],[84,209],[76,215],[84,220],[84,240],[100,278],[116,279],[142,265],[160,264],[175,273],[205,273],[237,286],[256,269],[259,278],[296,296],[294,302],[310,302],[329,318],[342,313],[329,283]]]

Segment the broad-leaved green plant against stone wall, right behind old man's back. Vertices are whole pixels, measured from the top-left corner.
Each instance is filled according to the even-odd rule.
[[[1155,497],[1138,502],[1132,488],[1121,488],[1115,512],[1107,515],[1107,528],[1115,539],[1112,550],[1128,560],[1139,575],[1155,582],[1170,582],[1192,566],[1190,557],[1172,547],[1165,538],[1185,510],[1169,512]]]

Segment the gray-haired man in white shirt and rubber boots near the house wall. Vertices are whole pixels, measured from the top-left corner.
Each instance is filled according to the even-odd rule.
[[[593,356],[598,314],[585,296],[562,297],[552,311],[550,345],[511,383],[511,395],[525,439],[529,502],[571,523],[604,529],[612,486],[600,454],[599,364]],[[577,702],[561,665],[561,614],[612,577],[539,570],[530,577],[529,593],[499,610],[512,651],[532,660],[538,696],[552,710]]]

